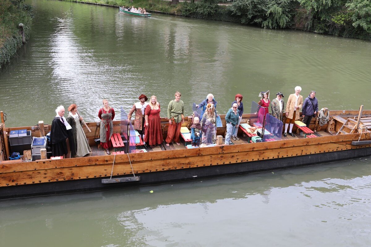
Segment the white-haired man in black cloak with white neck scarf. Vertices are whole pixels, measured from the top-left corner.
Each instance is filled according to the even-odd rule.
[[[52,143],[52,156],[63,156],[68,154],[67,148],[67,127],[71,126],[67,123],[64,117],[65,107],[58,106],[55,109],[56,116],[52,121],[52,130],[50,131],[50,143]]]

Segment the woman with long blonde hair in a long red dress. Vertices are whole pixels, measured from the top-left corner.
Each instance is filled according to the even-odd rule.
[[[157,144],[161,144],[163,137],[161,133],[161,117],[160,117],[160,104],[157,102],[157,97],[152,96],[150,103],[145,108],[145,134],[144,141],[150,144],[153,148]]]

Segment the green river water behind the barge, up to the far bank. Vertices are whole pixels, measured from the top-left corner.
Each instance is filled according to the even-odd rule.
[[[72,103],[85,120],[97,120],[102,99],[119,119],[121,106],[128,111],[141,93],[166,107],[175,91],[187,114],[209,93],[221,114],[240,93],[249,113],[260,91],[287,97],[297,85],[304,97],[315,90],[320,108],[371,109],[370,41],[160,14],[134,18],[91,4],[29,3],[36,16],[31,39],[0,70],[8,126],[51,123],[59,104]]]

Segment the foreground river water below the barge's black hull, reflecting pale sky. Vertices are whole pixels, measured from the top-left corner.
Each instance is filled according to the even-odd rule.
[[[369,161],[359,159],[248,176],[5,200],[0,201],[0,237],[10,243],[16,229],[22,232],[32,225],[37,227],[27,228],[27,241],[42,229],[53,235],[68,226],[73,239],[84,236],[84,241],[75,241],[82,245],[242,246],[249,241],[270,246],[280,239],[282,244],[273,245],[362,246],[369,238],[370,179]],[[339,241],[350,235],[349,229],[352,237]]]

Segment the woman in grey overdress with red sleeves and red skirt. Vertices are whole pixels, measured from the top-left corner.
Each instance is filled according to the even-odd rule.
[[[109,148],[112,146],[111,136],[114,133],[112,120],[115,117],[115,110],[109,106],[108,100],[103,100],[103,107],[99,109],[98,117],[101,120],[101,146],[107,154],[111,154]]]

